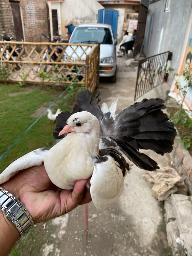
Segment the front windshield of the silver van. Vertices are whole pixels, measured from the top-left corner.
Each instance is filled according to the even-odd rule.
[[[74,44],[113,44],[111,32],[102,27],[78,27],[70,38]]]

